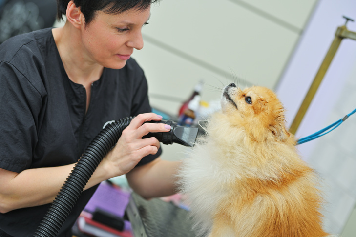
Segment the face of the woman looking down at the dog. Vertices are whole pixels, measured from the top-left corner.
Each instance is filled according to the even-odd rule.
[[[94,20],[82,28],[84,57],[107,68],[123,68],[133,49],[143,48],[141,28],[149,16],[150,8],[120,14],[98,11]]]

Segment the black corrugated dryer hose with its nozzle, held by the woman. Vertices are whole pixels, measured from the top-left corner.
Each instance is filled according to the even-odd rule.
[[[57,236],[89,178],[105,155],[115,146],[123,130],[130,124],[132,119],[132,117],[120,119],[106,125],[91,141],[49,207],[34,237]],[[196,138],[199,135],[203,135],[201,129],[178,126],[171,120],[150,122],[165,123],[171,126],[172,129],[167,133],[149,133],[145,136],[156,137],[163,144],[173,144],[175,142],[185,146],[194,146]]]

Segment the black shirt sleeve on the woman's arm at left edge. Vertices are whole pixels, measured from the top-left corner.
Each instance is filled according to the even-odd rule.
[[[21,172],[31,167],[37,143],[40,93],[15,66],[0,63],[0,167]]]

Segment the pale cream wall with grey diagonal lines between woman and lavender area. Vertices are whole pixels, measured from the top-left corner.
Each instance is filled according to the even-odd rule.
[[[228,82],[273,88],[315,0],[162,0],[133,55],[144,68],[153,106],[175,114],[194,84],[217,99]],[[165,98],[165,99],[162,99]]]

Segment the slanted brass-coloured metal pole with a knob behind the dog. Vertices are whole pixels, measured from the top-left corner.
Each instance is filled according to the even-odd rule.
[[[347,19],[347,20],[350,20],[350,19]],[[350,37],[350,36],[352,36],[352,37]],[[328,68],[330,66],[330,63],[335,56],[335,53],[341,43],[341,40],[344,38],[353,39],[354,36],[355,36],[355,32],[348,31],[346,28],[346,23],[343,26],[337,27],[337,30],[335,33],[335,38],[334,38],[332,44],[330,45],[330,48],[329,48],[323,62],[321,63],[318,72],[315,75],[314,81],[312,82],[312,85],[310,86],[309,91],[307,92],[307,95],[305,96],[302,104],[299,107],[299,110],[298,110],[296,116],[294,117],[292,125],[289,129],[292,134],[295,134],[302,119],[304,118],[304,115],[307,112],[309,105],[312,102],[314,95],[315,95],[321,81],[323,80],[323,78],[326,74],[326,71],[328,70]]]

